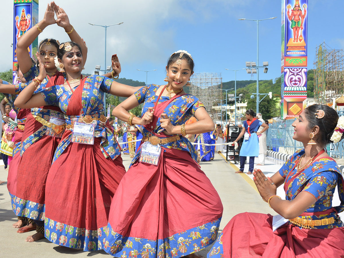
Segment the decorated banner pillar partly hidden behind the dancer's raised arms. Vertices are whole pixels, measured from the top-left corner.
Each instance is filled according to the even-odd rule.
[[[17,76],[17,42],[32,26],[38,22],[38,0],[14,0],[13,15],[13,83],[20,82]],[[30,56],[36,59],[38,37],[28,47]]]

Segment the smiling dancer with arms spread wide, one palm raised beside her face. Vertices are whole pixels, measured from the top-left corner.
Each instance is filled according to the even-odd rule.
[[[103,95],[129,97],[140,87],[99,75],[83,77],[82,50],[75,42],[62,43],[57,57],[65,69],[64,84],[40,88],[46,72],[37,53],[40,73],[18,95],[15,105],[58,106],[64,114],[65,131],[46,178],[45,237],[53,243],[59,239],[62,246],[98,250],[103,248],[101,236],[107,233],[112,196],[125,174],[120,148],[105,117]],[[112,62],[120,67],[116,58]],[[33,94],[36,88],[40,92]]]

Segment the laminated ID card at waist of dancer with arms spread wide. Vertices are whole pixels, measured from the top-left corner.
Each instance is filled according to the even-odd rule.
[[[94,129],[96,125],[74,122],[72,142],[94,144]]]

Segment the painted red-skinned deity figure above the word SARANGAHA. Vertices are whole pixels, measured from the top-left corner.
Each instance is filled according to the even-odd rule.
[[[302,30],[303,30],[303,19],[306,16],[306,4],[303,5],[304,11],[302,14],[302,10],[300,7],[300,0],[295,0],[295,5],[294,5],[294,9],[291,11],[291,13],[289,13],[289,10],[291,8],[290,4],[287,6],[288,11],[287,11],[287,15],[288,15],[288,19],[291,21],[291,26],[290,28],[293,29],[293,33],[294,33],[294,39],[293,42],[298,42],[298,41],[302,41],[303,37],[302,37]],[[301,29],[301,32],[300,32]],[[300,34],[300,37],[299,37]]]

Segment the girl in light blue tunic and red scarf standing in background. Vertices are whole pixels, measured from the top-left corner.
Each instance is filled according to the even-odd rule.
[[[241,137],[244,136],[244,142],[241,144],[239,156],[240,156],[240,169],[235,173],[244,173],[245,161],[247,156],[250,157],[249,168],[247,174],[252,174],[255,163],[255,157],[259,155],[259,142],[258,136],[265,132],[269,126],[256,119],[256,112],[252,109],[246,110],[246,119],[242,125],[243,129],[239,133],[239,136],[233,142],[238,142]],[[258,132],[259,127],[263,129]]]

